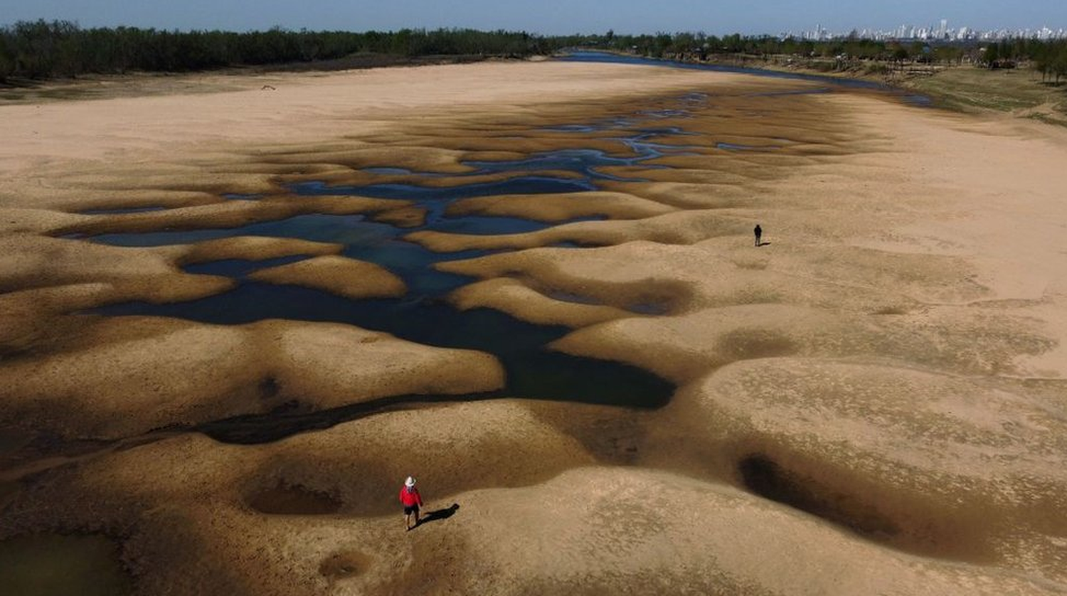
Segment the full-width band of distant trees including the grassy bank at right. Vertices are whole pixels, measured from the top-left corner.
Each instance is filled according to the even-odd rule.
[[[811,42],[738,34],[617,35],[614,31],[545,37],[469,29],[364,33],[271,29],[233,33],[128,27],[81,29],[67,21],[38,20],[0,28],[0,83],[130,70],[379,66],[434,55],[521,58],[573,47],[758,68],[798,67],[850,77],[892,78],[957,109],[1035,110],[1028,115],[1052,120],[1067,112],[1063,90],[1057,88],[1067,78],[1067,41],[1023,38],[983,44],[903,44],[861,39],[855,34]],[[985,68],[951,68],[964,64]],[[1039,82],[1036,76],[1024,74],[1034,70],[1040,74]],[[986,76],[989,74],[1001,76]]]

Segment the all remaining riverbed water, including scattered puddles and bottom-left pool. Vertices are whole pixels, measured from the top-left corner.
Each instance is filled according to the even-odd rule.
[[[605,54],[584,54],[572,60],[607,60],[641,62],[637,59],[605,58]],[[663,62],[655,64],[670,65]],[[683,66],[688,67],[688,66]],[[712,68],[728,69],[731,68]],[[743,70],[749,71],[749,70]],[[755,71],[753,74],[763,74]],[[834,80],[839,84],[840,80]],[[812,93],[823,93],[816,90]],[[663,155],[683,155],[698,148],[683,129],[658,126],[665,118],[683,119],[685,107],[702,102],[703,94],[689,94],[671,110],[639,112],[626,117],[611,117],[593,123],[566,123],[548,127],[543,132],[568,134],[617,131],[619,151],[608,155],[595,149],[561,149],[527,156],[510,161],[467,162],[473,172],[463,176],[514,174],[515,177],[494,182],[460,183],[448,187],[423,186],[420,178],[446,176],[418,173],[399,167],[364,170],[372,176],[393,178],[410,176],[412,183],[370,183],[360,187],[329,187],[320,182],[293,184],[299,195],[369,196],[414,202],[427,210],[425,222],[417,227],[401,228],[370,221],[364,215],[304,214],[273,222],[217,229],[158,230],[137,233],[106,233],[85,238],[118,246],[158,246],[189,244],[209,239],[236,236],[298,238],[344,245],[343,255],[378,263],[403,279],[408,292],[399,299],[349,300],[328,292],[297,286],[271,285],[251,280],[248,276],[260,269],[294,262],[303,255],[259,261],[224,259],[190,264],[188,273],[221,275],[234,278],[237,287],[228,292],[201,300],[150,304],[127,302],[97,308],[92,312],[105,316],[175,317],[216,324],[242,324],[266,319],[329,321],[348,323],[368,329],[382,331],[399,338],[429,345],[473,349],[495,355],[507,371],[507,386],[499,391],[477,396],[397,396],[370,403],[354,404],[329,412],[278,410],[266,415],[250,415],[200,425],[196,430],[220,440],[261,442],[312,429],[327,428],[378,409],[403,406],[411,402],[453,401],[520,397],[604,403],[630,407],[656,407],[665,404],[674,387],[647,371],[619,363],[570,356],[545,347],[570,332],[563,326],[536,325],[506,313],[479,308],[460,311],[445,297],[452,290],[474,279],[442,273],[437,262],[466,259],[488,254],[485,251],[435,253],[404,237],[416,230],[436,230],[468,235],[521,233],[548,227],[520,218],[481,215],[448,216],[447,207],[459,199],[505,194],[580,193],[600,188],[600,182],[623,181],[626,178],[601,171],[605,166],[641,165]],[[652,139],[656,141],[653,142]],[[672,139],[676,144],[666,143]],[[731,143],[714,143],[701,148],[726,149],[730,152],[775,150],[777,147],[755,147]],[[567,173],[569,176],[551,174]],[[229,200],[259,200],[262,195],[224,195]],[[127,207],[122,209],[87,210],[86,214],[108,215],[165,210],[161,206]],[[558,225],[558,224],[556,224]],[[590,296],[562,290],[546,291],[550,297],[583,304],[595,304]],[[663,313],[662,305],[634,304],[635,315]],[[19,449],[29,438],[0,435],[0,451]],[[10,444],[10,445],[5,445]],[[0,502],[12,486],[0,484]],[[277,490],[284,492],[284,487]],[[283,494],[282,497],[288,495]],[[275,499],[277,500],[277,499]],[[325,510],[333,503],[321,504]],[[0,508],[2,509],[2,508]],[[79,593],[122,594],[131,591],[131,582],[122,568],[115,542],[100,535],[38,534],[0,543],[0,593]],[[35,592],[36,591],[36,592]]]

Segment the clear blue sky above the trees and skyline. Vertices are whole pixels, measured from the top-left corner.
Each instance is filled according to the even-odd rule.
[[[1067,0],[0,0],[0,25],[365,31],[469,27],[543,34],[705,31],[779,33],[933,25],[1067,28]]]

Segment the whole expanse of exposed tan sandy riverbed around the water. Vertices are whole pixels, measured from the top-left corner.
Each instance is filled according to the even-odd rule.
[[[146,594],[1067,593],[1067,131],[621,65],[157,83],[0,106],[0,439],[15,437],[0,482],[17,482],[0,538],[107,536]],[[657,125],[694,132],[698,155],[602,168],[641,182],[453,206],[604,219],[408,237],[516,248],[439,265],[480,278],[449,300],[572,327],[555,349],[678,384],[663,408],[415,402],[223,445],[182,428],[489,391],[504,372],[349,325],[77,315],[227,291],[180,269],[219,258],[308,256],[260,275],[395,294],[399,279],[330,243],[55,236],[302,213],[417,225],[407,205],[285,183],[400,167],[445,187],[461,160],[619,152],[607,133],[544,127],[691,92],[704,108]],[[120,207],[166,210],[80,213]],[[393,500],[409,473],[439,515],[405,533]]]

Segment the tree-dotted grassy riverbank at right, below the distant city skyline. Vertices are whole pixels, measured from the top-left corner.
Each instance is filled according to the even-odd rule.
[[[800,68],[890,79],[957,110],[1009,111],[1067,124],[1067,41],[1005,39],[971,44],[830,42],[701,34],[590,36],[586,45],[690,61]],[[1025,66],[1025,67],[1024,67]]]

